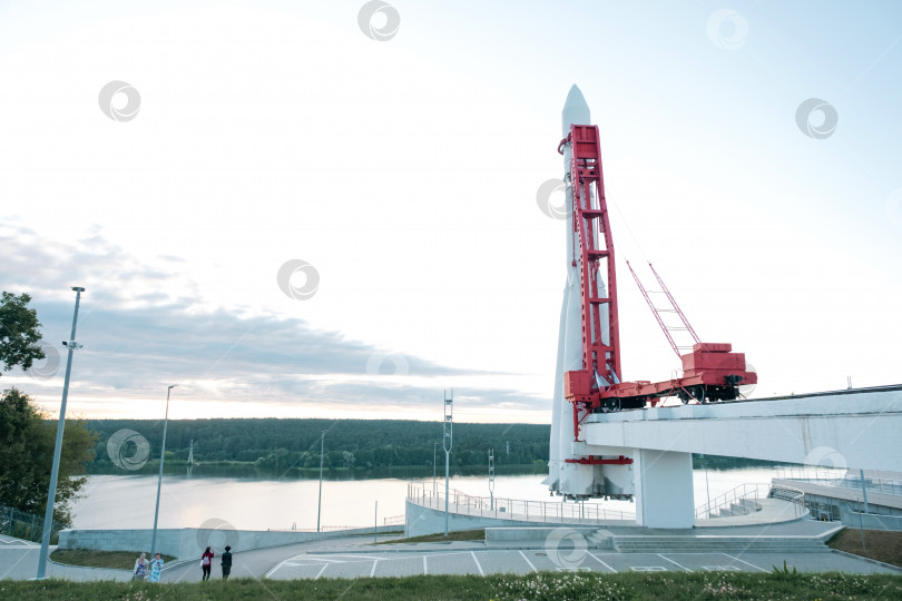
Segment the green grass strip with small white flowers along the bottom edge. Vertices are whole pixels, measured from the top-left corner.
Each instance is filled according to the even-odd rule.
[[[379,600],[549,600],[617,599],[703,601],[709,599],[892,600],[902,599],[896,575],[837,573],[619,573],[541,572],[524,577],[490,575],[362,578],[356,580],[214,580],[184,584],[147,582],[0,581],[0,598],[122,599],[129,601],[197,599],[379,599]]]

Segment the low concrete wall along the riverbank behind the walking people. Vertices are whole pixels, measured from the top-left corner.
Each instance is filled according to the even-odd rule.
[[[267,549],[285,544],[296,544],[325,539],[336,539],[349,534],[373,532],[395,532],[399,525],[382,525],[378,529],[356,528],[324,532],[259,531],[232,529],[158,529],[157,551],[183,559],[199,559],[207,546],[222,553],[226,545],[233,552],[252,549]],[[59,549],[85,549],[89,551],[131,551],[149,553],[154,531],[147,530],[63,530],[59,533]]]

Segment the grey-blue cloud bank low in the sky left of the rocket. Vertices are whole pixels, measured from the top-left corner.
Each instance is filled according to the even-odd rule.
[[[424,418],[435,418],[437,398],[449,382],[470,383],[459,406],[468,404],[481,418],[503,407],[511,416],[501,421],[518,421],[523,417],[513,412],[532,414],[546,406],[533,395],[482,384],[508,374],[452,368],[349,339],[301,318],[210,307],[202,298],[167,294],[192,289],[177,257],[147,265],[99,235],[67,244],[11,225],[0,225],[0,245],[8,250],[2,289],[32,295],[48,344],[59,346],[69,337],[69,288],[87,288],[76,336],[85,346],[76,357],[71,395],[73,402],[84,397],[82,410],[90,413],[111,403],[158,400],[171,383],[179,384],[180,397],[206,404],[204,416],[233,415],[235,404],[247,403],[255,411],[278,407],[283,415],[303,407],[305,414],[340,410],[372,417],[392,410],[409,415],[422,411]],[[65,356],[63,351],[60,346]],[[373,357],[386,356],[403,357],[403,372],[395,373],[392,361],[376,361],[381,365],[373,373]],[[53,378],[42,381],[13,371],[0,380],[0,387],[14,384],[53,400],[63,370],[65,359]],[[144,416],[139,404],[131,406],[135,416]]]

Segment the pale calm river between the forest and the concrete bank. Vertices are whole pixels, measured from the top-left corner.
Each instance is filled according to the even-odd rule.
[[[695,505],[705,503],[745,483],[767,483],[774,470],[743,467],[695,470]],[[560,502],[549,497],[545,476],[504,475],[494,481],[494,496]],[[364,526],[404,513],[408,483],[413,480],[327,480],[322,489],[323,526]],[[421,482],[422,479],[418,479]],[[427,481],[431,481],[427,479]],[[444,479],[438,485],[443,490]],[[452,489],[489,496],[488,476],[452,476]],[[208,520],[226,522],[238,530],[316,529],[318,480],[262,480],[188,477],[166,474],[160,494],[159,528],[196,528]],[[157,476],[92,475],[73,505],[73,528],[153,528]],[[609,501],[604,508],[635,511],[628,501]]]

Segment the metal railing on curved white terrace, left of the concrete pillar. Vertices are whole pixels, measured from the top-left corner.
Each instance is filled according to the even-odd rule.
[[[432,483],[408,484],[408,500],[424,508],[444,511],[444,491],[433,490]],[[605,521],[636,521],[636,513],[605,509],[600,503],[561,503],[526,501],[499,496],[472,496],[451,489],[449,511],[463,515],[479,515],[522,522],[601,523]]]

